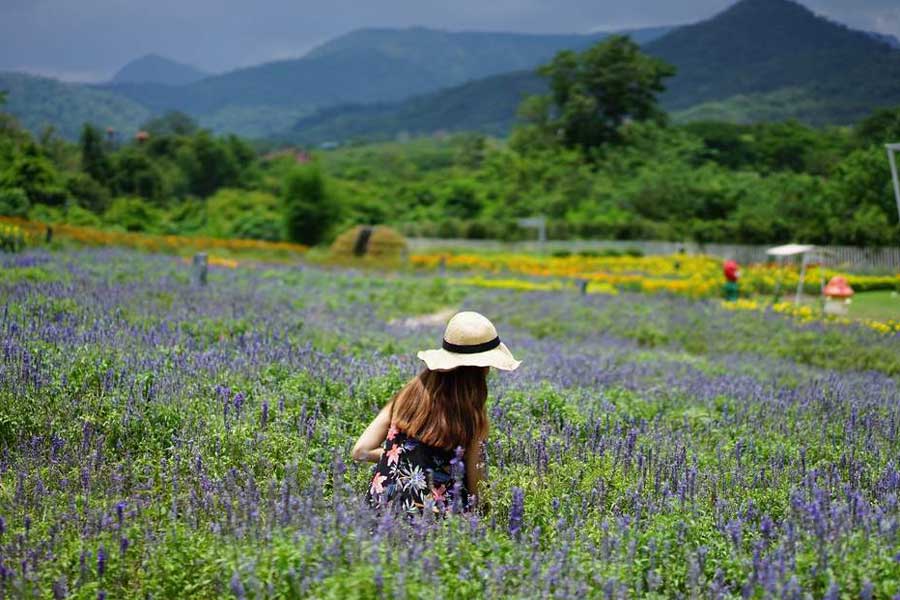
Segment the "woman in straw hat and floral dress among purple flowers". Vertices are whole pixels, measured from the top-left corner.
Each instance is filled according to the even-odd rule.
[[[381,409],[353,447],[355,460],[377,463],[366,499],[376,507],[399,502],[407,512],[474,506],[484,479],[487,374],[520,363],[475,312],[456,314],[442,348],[418,357],[427,369]]]

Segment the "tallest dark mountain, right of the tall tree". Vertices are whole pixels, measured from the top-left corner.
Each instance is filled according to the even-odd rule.
[[[678,69],[662,97],[670,110],[784,88],[822,101],[814,123],[900,103],[900,51],[790,0],[741,0],[644,49]]]

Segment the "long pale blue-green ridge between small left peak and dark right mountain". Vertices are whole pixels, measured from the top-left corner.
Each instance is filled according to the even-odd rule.
[[[668,30],[656,27],[636,30],[633,35],[650,40]],[[246,119],[256,124],[280,124],[286,113],[396,102],[490,75],[531,69],[559,50],[586,48],[607,35],[446,32],[422,27],[362,29],[327,42],[299,59],[238,69],[188,85],[112,82],[101,89],[128,97],[154,112],[177,109],[201,122],[216,120],[229,131],[270,135],[277,130],[247,131]],[[254,118],[254,111],[264,113],[265,118]],[[223,118],[226,116],[233,120]]]

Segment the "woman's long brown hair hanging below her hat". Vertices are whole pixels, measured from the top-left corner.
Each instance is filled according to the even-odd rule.
[[[424,444],[452,449],[487,436],[487,371],[457,367],[419,373],[394,398],[391,424]]]

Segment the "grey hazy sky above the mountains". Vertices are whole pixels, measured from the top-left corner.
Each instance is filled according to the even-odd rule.
[[[297,57],[359,27],[587,33],[699,21],[733,1],[0,0],[0,70],[98,81],[155,52],[224,71]],[[900,37],[900,0],[804,4],[852,27]]]

